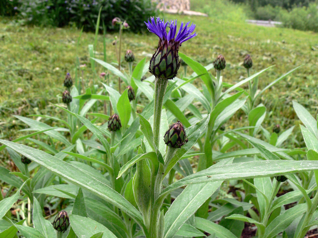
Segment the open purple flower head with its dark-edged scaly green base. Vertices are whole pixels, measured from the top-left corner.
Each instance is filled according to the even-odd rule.
[[[189,26],[190,22],[185,25],[181,22],[180,29],[176,33],[176,20],[164,22],[157,17],[155,22],[155,18],[151,17],[150,21],[148,19],[148,23],[145,23],[148,30],[159,37],[157,50],[150,60],[149,71],[157,78],[173,79],[180,68],[179,47],[183,42],[197,36],[196,33],[191,34],[196,25],[192,23]],[[169,32],[167,33],[168,25]]]

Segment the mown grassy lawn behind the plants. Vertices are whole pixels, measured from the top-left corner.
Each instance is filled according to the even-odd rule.
[[[271,128],[276,123],[283,128],[299,123],[292,108],[292,100],[297,100],[312,114],[317,114],[318,34],[265,28],[212,17],[161,17],[196,23],[198,36],[184,43],[180,51],[203,65],[211,63],[218,54],[223,54],[227,62],[223,72],[225,82],[235,83],[246,76],[241,65],[246,53],[253,59],[252,73],[276,65],[260,77],[260,88],[303,64],[301,69],[260,98],[260,102],[267,107],[263,124],[265,128]],[[107,62],[115,61],[112,41],[116,35],[106,35]],[[52,110],[50,103],[60,100],[66,72],[75,74],[76,56],[80,64],[88,65],[84,78],[87,83],[92,83],[88,44],[93,44],[94,34],[83,33],[79,36],[80,30],[75,28],[19,26],[11,19],[0,18],[0,138],[14,139],[21,134],[17,130],[25,127],[12,115],[57,113]],[[124,52],[130,49],[135,54],[136,62],[145,56],[150,59],[149,55],[157,43],[154,34],[135,35],[126,31],[123,36],[122,58]],[[96,51],[102,59],[101,35],[98,37]],[[128,70],[126,62],[123,62],[123,66]],[[101,67],[97,69],[97,73],[103,71]],[[200,88],[200,80],[196,83]],[[236,116],[232,120],[233,125],[239,125],[237,121],[242,119]]]

